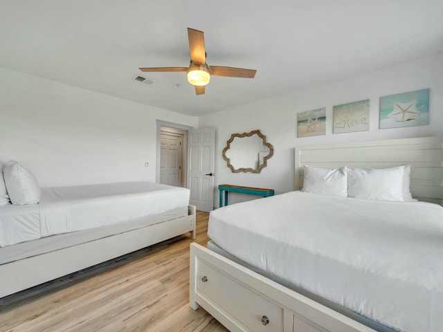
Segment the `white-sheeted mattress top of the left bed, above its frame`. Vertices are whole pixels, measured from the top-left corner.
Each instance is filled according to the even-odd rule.
[[[39,204],[0,208],[0,247],[187,211],[189,196],[186,188],[149,182],[42,188]]]

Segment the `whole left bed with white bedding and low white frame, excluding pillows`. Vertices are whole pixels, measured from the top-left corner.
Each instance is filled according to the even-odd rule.
[[[0,207],[0,297],[190,232],[189,190],[157,183],[42,188]]]

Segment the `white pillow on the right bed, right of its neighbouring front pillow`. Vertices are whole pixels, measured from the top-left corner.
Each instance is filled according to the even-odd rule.
[[[347,169],[347,195],[379,201],[404,201],[404,166]]]

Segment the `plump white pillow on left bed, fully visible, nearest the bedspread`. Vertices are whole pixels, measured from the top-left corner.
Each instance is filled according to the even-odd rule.
[[[14,205],[35,204],[40,201],[40,186],[28,169],[10,160],[3,167],[6,189]]]

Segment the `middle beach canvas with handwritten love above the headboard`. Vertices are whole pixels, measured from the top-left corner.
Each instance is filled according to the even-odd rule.
[[[369,130],[369,99],[334,106],[334,133]]]

